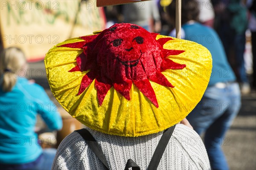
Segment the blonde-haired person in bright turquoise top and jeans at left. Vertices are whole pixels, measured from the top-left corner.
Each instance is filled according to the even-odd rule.
[[[26,58],[6,48],[0,58],[0,169],[51,169],[56,149],[42,149],[35,133],[37,114],[51,130],[62,128],[61,116],[44,89],[19,74]],[[26,72],[25,72],[26,73]]]

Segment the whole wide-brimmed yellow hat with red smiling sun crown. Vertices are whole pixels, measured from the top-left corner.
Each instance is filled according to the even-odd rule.
[[[71,116],[102,133],[130,137],[184,119],[212,70],[204,46],[129,23],[61,42],[44,63],[53,95]]]

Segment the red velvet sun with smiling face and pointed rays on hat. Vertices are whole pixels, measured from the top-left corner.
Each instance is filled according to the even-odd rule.
[[[172,38],[160,38],[144,28],[120,23],[105,29],[100,34],[81,37],[84,41],[61,45],[61,47],[83,48],[77,58],[77,65],[70,70],[90,70],[81,80],[77,95],[80,95],[95,79],[97,98],[102,105],[109,89],[118,91],[130,100],[130,89],[135,86],[158,108],[156,95],[149,80],[159,85],[174,88],[161,73],[166,69],[183,69],[168,59],[184,51],[167,50],[163,45]]]

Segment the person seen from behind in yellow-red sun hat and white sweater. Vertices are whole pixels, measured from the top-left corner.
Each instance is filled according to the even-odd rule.
[[[55,45],[44,62],[53,95],[88,131],[61,142],[52,169],[210,169],[201,138],[179,124],[209,82],[202,45],[120,23]]]

